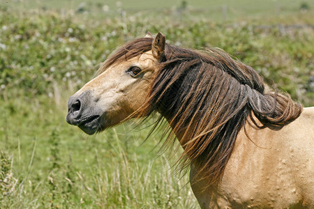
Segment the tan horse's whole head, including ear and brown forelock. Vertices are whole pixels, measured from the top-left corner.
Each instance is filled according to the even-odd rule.
[[[94,134],[137,116],[135,112],[149,95],[164,49],[162,33],[154,39],[147,33],[117,49],[100,67],[98,76],[69,98],[66,121]]]

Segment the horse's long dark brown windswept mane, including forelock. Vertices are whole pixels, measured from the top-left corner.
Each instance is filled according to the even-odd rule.
[[[151,50],[152,42],[152,38],[128,42],[105,61],[98,73],[115,62]],[[197,51],[166,44],[147,102],[137,114],[160,112],[155,128],[163,117],[167,118],[172,132],[165,144],[172,144],[174,133],[181,134],[183,140],[179,167],[195,165],[198,174],[209,177],[212,185],[220,180],[237,134],[248,121],[260,129],[279,130],[301,114],[301,104],[289,95],[266,92],[265,88],[253,68],[221,49]]]

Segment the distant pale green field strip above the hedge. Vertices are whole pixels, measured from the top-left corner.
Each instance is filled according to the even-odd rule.
[[[25,10],[58,10],[62,13],[77,13],[96,19],[114,17],[125,10],[127,15],[156,15],[202,17],[210,20],[247,20],[248,17],[275,17],[280,15],[296,15],[302,5],[314,8],[311,0],[238,0],[238,1],[186,1],[186,9],[182,10],[184,0],[160,1],[101,1],[101,0],[17,0],[3,1],[3,6]],[[105,8],[105,10],[104,10]],[[223,11],[224,10],[224,11]]]

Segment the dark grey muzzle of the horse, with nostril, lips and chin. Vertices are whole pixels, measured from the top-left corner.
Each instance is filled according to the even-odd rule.
[[[92,108],[91,96],[85,91],[79,96],[71,96],[68,100],[68,114],[66,122],[77,125],[87,134],[94,134],[98,130],[100,115]]]

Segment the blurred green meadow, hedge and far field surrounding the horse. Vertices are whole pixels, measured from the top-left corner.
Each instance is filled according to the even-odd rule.
[[[220,47],[314,105],[314,1],[0,0],[0,208],[199,207],[149,123],[87,136],[65,121],[68,97],[147,31]]]

